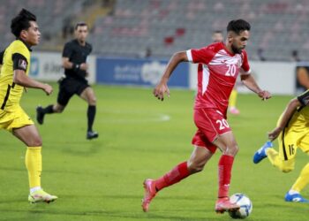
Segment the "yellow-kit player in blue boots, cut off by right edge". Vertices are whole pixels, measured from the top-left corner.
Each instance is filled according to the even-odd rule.
[[[262,159],[268,157],[271,164],[280,171],[290,172],[294,169],[297,149],[309,155],[309,90],[302,95],[290,100],[282,116],[279,118],[277,126],[270,133],[263,147],[255,152],[253,162],[260,163]],[[274,141],[278,137],[279,152],[272,149]],[[286,202],[309,202],[300,192],[309,183],[309,163],[300,172],[290,191],[285,194]]]

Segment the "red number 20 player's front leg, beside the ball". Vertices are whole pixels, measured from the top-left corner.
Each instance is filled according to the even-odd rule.
[[[213,143],[222,151],[218,163],[218,199],[215,203],[215,211],[222,213],[227,210],[238,210],[239,206],[230,202],[230,179],[231,171],[234,163],[234,156],[236,156],[238,147],[233,133],[222,133],[217,137]]]

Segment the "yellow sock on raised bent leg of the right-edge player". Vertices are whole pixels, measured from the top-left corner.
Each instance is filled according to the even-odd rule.
[[[277,167],[280,171],[289,172],[294,170],[295,160],[290,159],[283,161],[279,158],[279,153],[275,149],[268,149],[266,151],[268,159],[271,164]]]

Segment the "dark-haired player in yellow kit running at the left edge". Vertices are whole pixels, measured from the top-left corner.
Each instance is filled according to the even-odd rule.
[[[11,20],[11,33],[16,40],[0,54],[0,129],[11,132],[26,144],[25,163],[30,186],[28,201],[53,202],[57,196],[41,188],[41,136],[34,122],[19,106],[24,88],[39,88],[47,95],[53,91],[48,84],[28,77],[31,47],[40,42],[41,36],[35,15],[21,10]]]

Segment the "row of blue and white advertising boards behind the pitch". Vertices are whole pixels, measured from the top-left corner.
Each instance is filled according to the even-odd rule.
[[[64,74],[61,57],[61,53],[56,52],[34,52],[30,75],[38,80],[57,81]],[[90,56],[87,63],[90,83],[154,87],[168,60]],[[169,86],[196,89],[197,66],[189,63],[178,65]],[[260,87],[276,95],[297,93],[296,66],[292,62],[251,62],[252,74]],[[238,87],[238,91],[250,93],[245,86]]]

